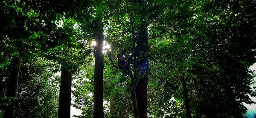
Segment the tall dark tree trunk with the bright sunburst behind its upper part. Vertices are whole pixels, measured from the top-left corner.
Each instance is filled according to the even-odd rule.
[[[93,32],[96,40],[93,118],[103,118],[103,23],[100,20],[94,26]]]

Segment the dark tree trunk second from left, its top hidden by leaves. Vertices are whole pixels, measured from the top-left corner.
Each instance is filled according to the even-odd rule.
[[[58,118],[70,118],[70,102],[71,102],[71,73],[61,67],[61,89],[59,97]]]

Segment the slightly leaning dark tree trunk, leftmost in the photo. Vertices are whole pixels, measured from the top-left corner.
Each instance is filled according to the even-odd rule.
[[[17,97],[19,73],[20,73],[20,59],[14,58],[10,67],[9,86],[7,97]],[[3,118],[14,118],[15,102],[11,103],[4,112]]]

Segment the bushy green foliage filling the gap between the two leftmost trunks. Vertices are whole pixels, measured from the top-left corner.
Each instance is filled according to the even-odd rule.
[[[16,101],[17,117],[57,117],[60,76],[55,74],[55,69],[60,66],[40,66],[47,62],[44,58],[23,61]]]

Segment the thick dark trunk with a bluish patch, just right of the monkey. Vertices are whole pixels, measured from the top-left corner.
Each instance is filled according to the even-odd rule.
[[[138,46],[137,49],[138,51],[138,57],[143,56],[143,59],[140,60],[140,68],[142,66],[145,66],[145,62],[148,63],[148,57],[145,56],[144,54],[148,52],[149,47],[148,47],[148,30],[146,23],[142,24],[141,28],[141,37],[140,40],[138,41]],[[147,67],[148,68],[148,67]],[[147,105],[147,85],[148,85],[148,74],[147,72],[144,72],[145,70],[140,70],[141,76],[138,78],[138,83],[136,86],[136,99],[137,99],[137,104],[138,104],[138,113],[139,113],[139,118],[147,118],[148,117],[148,105]]]

